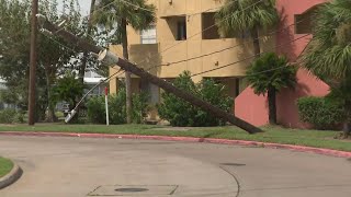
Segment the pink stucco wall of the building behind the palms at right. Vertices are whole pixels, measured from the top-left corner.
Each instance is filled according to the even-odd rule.
[[[326,2],[326,0],[278,0],[276,7],[281,13],[281,23],[278,27],[276,53],[288,57],[291,62],[295,62],[301,53],[308,44],[310,36],[291,43],[304,34],[295,34],[295,26],[287,27],[295,23],[295,14],[302,14],[313,7]],[[309,74],[306,70],[299,69],[297,72],[297,86],[295,90],[282,90],[278,95],[278,121],[286,127],[306,128],[298,119],[296,101],[301,96],[314,95],[324,96],[328,94],[329,86],[322,81]],[[268,103],[265,96],[258,96],[251,88],[246,89],[235,103],[236,116],[256,126],[267,125]]]

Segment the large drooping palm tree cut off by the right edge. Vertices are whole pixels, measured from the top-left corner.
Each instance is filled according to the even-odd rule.
[[[351,1],[333,0],[321,5],[315,18],[313,34],[301,62],[332,89],[343,90],[339,95],[347,114],[347,138],[351,132]]]

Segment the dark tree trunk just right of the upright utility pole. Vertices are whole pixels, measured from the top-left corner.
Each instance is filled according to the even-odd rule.
[[[49,71],[49,68],[45,68],[45,74],[46,74],[46,90],[47,90],[47,116],[46,121],[47,123],[54,123],[57,121],[57,117],[55,115],[55,102],[53,101],[52,96],[52,73]]]

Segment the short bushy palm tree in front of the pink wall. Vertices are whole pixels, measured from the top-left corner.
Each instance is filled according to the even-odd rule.
[[[256,94],[268,94],[270,124],[276,124],[276,93],[283,88],[294,88],[297,69],[285,57],[269,53],[258,58],[247,71]]]

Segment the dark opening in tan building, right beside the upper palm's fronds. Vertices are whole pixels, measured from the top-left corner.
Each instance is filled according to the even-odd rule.
[[[218,26],[215,25],[215,13],[202,13],[202,38],[203,39],[219,39]]]

